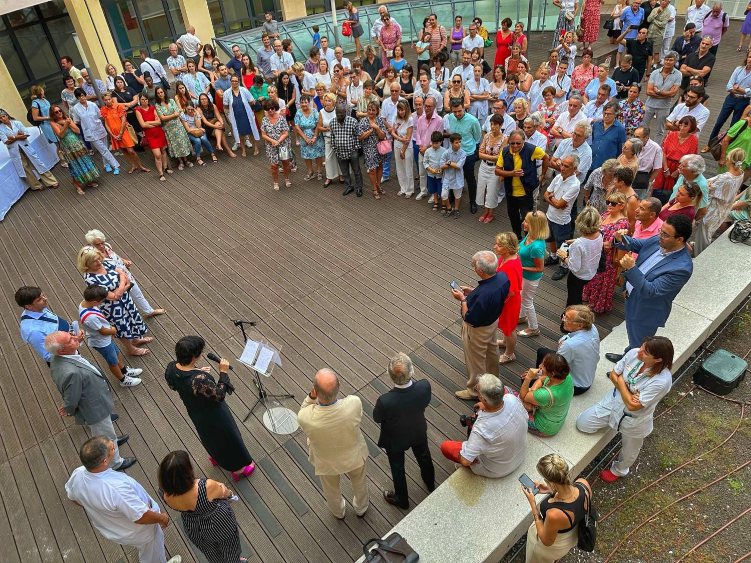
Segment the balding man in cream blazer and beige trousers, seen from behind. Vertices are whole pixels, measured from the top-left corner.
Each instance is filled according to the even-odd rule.
[[[336,518],[344,519],[345,501],[339,487],[342,474],[347,474],[352,483],[352,507],[357,516],[368,510],[365,474],[368,447],[360,431],[363,418],[360,397],[337,399],[338,395],[339,378],[330,369],[321,369],[297,413],[297,422],[308,436],[309,460],[321,479],[329,510]]]

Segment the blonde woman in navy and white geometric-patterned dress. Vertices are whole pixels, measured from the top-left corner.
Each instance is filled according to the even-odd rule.
[[[148,348],[140,346],[152,342],[154,337],[145,336],[149,329],[131,298],[128,273],[116,263],[105,260],[104,254],[91,245],[78,251],[76,266],[83,272],[86,285],[101,285],[108,291],[107,299],[99,309],[107,321],[115,325],[115,335],[125,346],[125,351],[131,356],[149,354]]]

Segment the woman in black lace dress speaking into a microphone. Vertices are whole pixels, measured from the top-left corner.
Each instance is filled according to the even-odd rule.
[[[164,379],[170,389],[179,393],[212,464],[231,471],[234,480],[239,481],[241,476],[253,472],[255,462],[225,402],[225,396],[234,391],[227,373],[229,362],[222,358],[219,363],[219,383],[209,373],[210,367],[195,366],[205,345],[201,336],[179,339],[175,345],[177,361],[167,366]]]

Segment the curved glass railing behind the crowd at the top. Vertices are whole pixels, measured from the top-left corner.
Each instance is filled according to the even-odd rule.
[[[552,4],[547,7],[547,2],[535,2],[532,0],[517,0],[515,3],[504,2],[502,6],[496,0],[456,0],[455,2],[436,2],[436,0],[407,0],[406,2],[388,2],[385,6],[391,17],[402,26],[402,41],[415,41],[418,31],[422,29],[423,20],[430,14],[436,14],[438,21],[446,29],[451,29],[454,16],[461,14],[464,25],[469,25],[472,18],[479,17],[483,25],[487,27],[490,39],[493,40],[495,32],[500,27],[500,22],[508,17],[514,23],[521,22],[524,29],[529,32],[555,29],[559,10]],[[360,42],[364,45],[370,41],[370,28],[372,23],[379,19],[378,9],[381,5],[373,4],[359,6],[360,23],[363,26],[363,35]],[[333,48],[339,44],[345,53],[354,52],[354,41],[341,35],[342,20],[346,18],[346,11],[336,12],[336,29],[331,20],[331,12],[314,14],[297,20],[279,22],[279,33],[284,38],[292,40],[293,54],[297,61],[304,61],[308,57],[308,51],[313,43],[312,26],[318,26],[318,33],[329,38],[329,44]],[[255,53],[261,46],[261,29],[248,29],[222,37],[214,38],[228,55],[232,52],[232,45],[237,44],[245,53]]]

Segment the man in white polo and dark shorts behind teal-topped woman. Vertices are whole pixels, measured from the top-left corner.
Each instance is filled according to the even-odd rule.
[[[550,239],[548,239],[550,241],[550,256],[545,258],[546,266],[558,263],[556,251],[559,245],[571,238],[571,210],[581,187],[579,179],[576,177],[579,167],[579,156],[577,154],[574,153],[562,158],[559,167],[560,174],[553,178],[553,182],[550,182],[544,194],[544,200],[549,204],[545,215],[547,216],[547,226],[550,227]],[[563,263],[559,266],[559,269],[566,269]],[[566,272],[562,273],[565,274]]]

